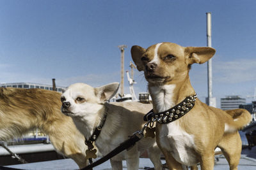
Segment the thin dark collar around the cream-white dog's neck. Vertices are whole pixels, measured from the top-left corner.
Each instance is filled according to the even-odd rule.
[[[107,115],[108,115],[108,112],[106,111],[106,112],[104,113],[104,116],[103,116],[103,118],[102,118],[102,120],[101,120],[100,125],[94,129],[92,136],[91,136],[89,139],[85,139],[85,142],[84,142],[84,143],[85,143],[85,145],[88,146],[88,149],[94,148],[94,146],[93,146],[92,143],[93,143],[94,141],[96,141],[96,139],[99,137],[100,132],[101,132],[101,129],[102,129],[102,127],[104,126],[104,124],[105,124],[105,122],[106,122]]]

